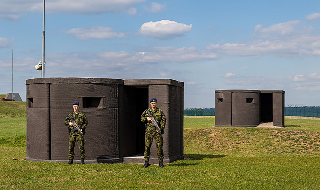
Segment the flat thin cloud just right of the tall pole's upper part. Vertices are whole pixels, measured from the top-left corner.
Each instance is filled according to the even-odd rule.
[[[85,28],[73,28],[66,31],[75,35],[79,40],[123,38],[123,33],[114,33],[111,27],[93,26]]]

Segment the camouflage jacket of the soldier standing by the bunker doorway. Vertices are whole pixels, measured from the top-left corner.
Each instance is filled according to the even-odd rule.
[[[153,117],[156,118],[159,123],[161,123],[160,127],[161,127],[161,131],[163,131],[165,129],[165,125],[166,125],[166,121],[167,121],[165,113],[159,108],[156,108],[155,110],[153,110],[152,108],[148,108],[147,110],[149,110],[150,113],[153,114]],[[146,124],[146,129],[147,130],[155,131],[155,127],[152,125],[151,122],[148,122],[147,117],[150,117],[150,116],[145,110],[141,114],[141,121]]]

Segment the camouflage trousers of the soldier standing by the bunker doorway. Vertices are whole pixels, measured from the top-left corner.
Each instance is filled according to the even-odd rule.
[[[164,150],[163,150],[164,139],[162,138],[162,136],[159,133],[150,132],[147,130],[146,130],[146,136],[144,138],[144,142],[145,142],[144,160],[148,161],[150,159],[150,148],[152,145],[153,137],[154,137],[154,141],[155,141],[156,148],[157,148],[158,160],[159,160],[159,162],[163,162],[163,160],[164,160]]]

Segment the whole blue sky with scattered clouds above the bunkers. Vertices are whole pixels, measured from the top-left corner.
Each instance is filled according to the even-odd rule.
[[[42,0],[0,1],[0,94],[13,84],[26,101],[41,78],[42,23]],[[319,58],[318,0],[45,2],[45,77],[174,79],[184,108],[213,108],[223,89],[320,106]]]

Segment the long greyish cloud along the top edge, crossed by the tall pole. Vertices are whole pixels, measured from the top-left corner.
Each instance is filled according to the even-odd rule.
[[[128,11],[133,14],[134,6],[145,0],[51,0],[45,2],[46,13],[101,14]],[[26,12],[42,12],[43,1],[16,0],[0,1],[0,18],[16,20]]]

